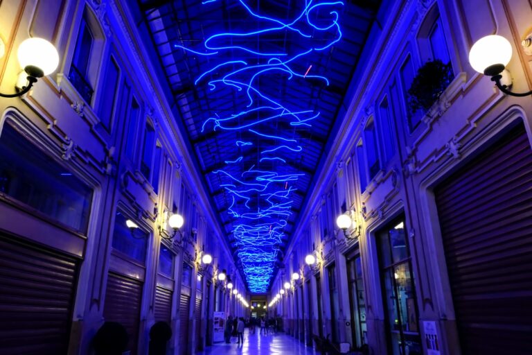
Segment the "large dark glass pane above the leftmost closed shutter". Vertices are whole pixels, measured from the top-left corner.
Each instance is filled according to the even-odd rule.
[[[87,233],[92,190],[36,149],[10,121],[4,123],[0,135],[0,193]]]

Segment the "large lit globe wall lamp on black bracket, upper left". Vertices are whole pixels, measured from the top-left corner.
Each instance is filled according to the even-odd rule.
[[[1,47],[3,48],[3,42]],[[28,74],[28,85],[22,87],[21,91],[16,94],[0,93],[2,97],[17,97],[26,94],[33,87],[33,84],[37,83],[38,78],[52,73],[59,64],[57,49],[47,40],[38,37],[24,40],[19,46],[17,57],[20,66]]]

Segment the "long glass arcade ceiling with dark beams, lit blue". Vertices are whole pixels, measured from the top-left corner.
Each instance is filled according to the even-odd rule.
[[[139,1],[240,272],[265,293],[380,1]]]

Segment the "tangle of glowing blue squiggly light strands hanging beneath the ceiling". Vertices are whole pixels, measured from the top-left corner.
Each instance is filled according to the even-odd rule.
[[[211,2],[213,1],[204,1],[204,5],[209,6]],[[232,90],[235,94],[247,98],[247,105],[242,107],[240,112],[212,112],[213,115],[204,121],[202,132],[209,129],[247,130],[267,141],[275,142],[274,145],[268,144],[265,149],[262,148],[262,141],[258,141],[255,147],[258,162],[257,154],[247,154],[246,157],[240,156],[233,161],[225,161],[227,165],[251,164],[251,167],[242,173],[235,174],[229,169],[225,171],[224,168],[213,171],[225,175],[227,180],[227,183],[220,186],[231,196],[227,213],[238,219],[238,223],[233,223],[232,232],[249,291],[265,293],[273,276],[274,263],[278,259],[278,245],[282,243],[286,218],[292,214],[291,182],[302,175],[285,173],[283,164],[286,164],[286,159],[290,159],[290,155],[301,153],[303,148],[297,139],[285,137],[283,132],[278,132],[278,135],[265,134],[261,125],[273,120],[283,120],[290,125],[311,125],[312,120],[319,116],[319,112],[298,110],[283,103],[282,98],[264,92],[260,87],[260,77],[277,72],[283,75],[283,80],[292,81],[292,85],[313,85],[305,83],[312,78],[323,80],[328,85],[325,76],[298,73],[292,64],[297,60],[304,60],[303,57],[312,51],[326,50],[340,40],[342,31],[335,8],[343,6],[344,3],[308,1],[294,20],[285,22],[261,15],[260,12],[251,10],[244,1],[239,2],[249,16],[260,24],[260,29],[211,35],[203,42],[204,48],[187,48],[179,44],[174,46],[198,55],[218,55],[221,51],[242,51],[256,55],[256,60],[227,60],[213,64],[211,69],[195,80],[195,84],[208,85],[211,92]],[[300,53],[265,51],[256,43],[260,42],[262,35],[268,35],[270,39],[272,36],[278,36],[282,40],[286,30],[297,33],[301,41],[308,42],[308,49]],[[251,141],[235,141],[235,146],[241,144],[254,145]],[[275,164],[263,167],[262,163],[265,161]],[[256,201],[253,207],[249,205],[251,200]]]

